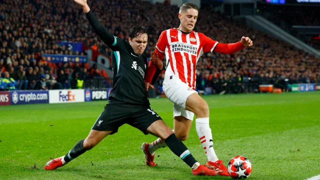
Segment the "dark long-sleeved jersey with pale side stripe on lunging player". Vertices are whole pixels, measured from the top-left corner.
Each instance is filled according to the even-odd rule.
[[[91,10],[86,13],[86,16],[95,33],[113,50],[111,56],[113,88],[110,91],[109,99],[116,99],[117,102],[149,105],[144,89],[146,57],[135,54],[127,41],[113,36],[99,23]]]

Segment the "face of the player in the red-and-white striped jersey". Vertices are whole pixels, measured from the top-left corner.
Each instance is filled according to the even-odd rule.
[[[194,8],[186,9],[184,12],[179,13],[179,19],[182,26],[182,31],[190,32],[195,25],[198,18],[198,11]]]

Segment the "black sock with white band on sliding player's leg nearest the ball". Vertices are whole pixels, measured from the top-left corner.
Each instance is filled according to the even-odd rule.
[[[175,155],[179,156],[190,167],[197,162],[186,146],[178,138],[176,138],[174,133],[169,135],[164,142]]]

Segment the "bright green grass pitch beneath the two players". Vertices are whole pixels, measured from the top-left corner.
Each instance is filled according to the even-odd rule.
[[[305,179],[320,174],[320,92],[203,98],[210,107],[214,149],[225,165],[231,157],[244,155],[252,163],[249,179]],[[44,170],[49,157],[64,155],[86,137],[105,103],[0,106],[0,179],[231,179],[193,176],[168,148],[156,152],[156,167],[145,166],[139,147],[155,137],[129,125],[67,165]],[[166,98],[150,103],[172,127],[172,103]],[[194,124],[184,143],[205,163]]]

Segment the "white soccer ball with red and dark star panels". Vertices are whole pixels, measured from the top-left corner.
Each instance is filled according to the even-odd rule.
[[[252,170],[250,161],[244,156],[235,156],[228,163],[229,175],[234,179],[247,178]]]

